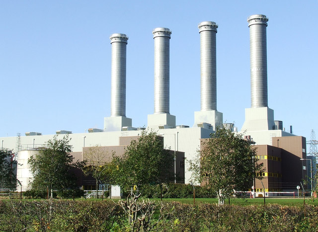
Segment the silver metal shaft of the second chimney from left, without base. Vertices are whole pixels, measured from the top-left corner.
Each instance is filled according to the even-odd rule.
[[[155,40],[155,114],[169,114],[169,50],[171,31],[158,27]]]

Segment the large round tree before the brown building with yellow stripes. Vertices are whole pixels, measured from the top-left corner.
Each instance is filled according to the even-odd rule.
[[[214,191],[220,205],[234,190],[250,188],[255,173],[262,171],[263,164],[257,163],[256,149],[241,137],[231,130],[218,128],[210,139],[202,142],[197,158],[190,161],[193,180]]]

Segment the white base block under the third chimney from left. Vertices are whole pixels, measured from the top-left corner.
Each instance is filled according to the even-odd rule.
[[[208,123],[213,126],[215,131],[217,127],[221,127],[223,123],[223,113],[217,110],[195,111],[193,127],[201,127],[202,123]]]

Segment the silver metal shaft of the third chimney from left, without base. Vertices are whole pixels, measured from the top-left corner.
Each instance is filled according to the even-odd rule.
[[[218,24],[199,23],[201,52],[201,111],[217,110],[216,33]]]

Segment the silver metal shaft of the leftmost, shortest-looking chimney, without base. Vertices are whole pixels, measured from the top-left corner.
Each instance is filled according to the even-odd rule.
[[[111,43],[111,117],[126,116],[126,46],[125,34],[112,34]]]

